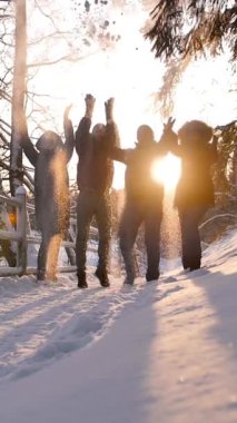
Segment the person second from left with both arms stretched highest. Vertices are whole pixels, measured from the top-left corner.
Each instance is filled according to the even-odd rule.
[[[108,259],[111,229],[110,188],[113,177],[113,163],[108,151],[118,142],[117,127],[112,119],[113,99],[106,104],[107,125],[97,124],[92,131],[91,118],[96,98],[86,96],[86,115],[76,131],[76,150],[79,156],[77,183],[79,188],[77,205],[77,275],[78,287],[87,288],[86,254],[89,228],[96,217],[99,233],[99,260],[96,276],[100,285],[108,287]]]

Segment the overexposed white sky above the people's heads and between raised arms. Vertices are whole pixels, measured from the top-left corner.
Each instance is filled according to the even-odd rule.
[[[154,59],[150,43],[145,41],[141,33],[148,12],[141,10],[140,1],[131,3],[134,7],[128,6],[125,9],[113,7],[105,12],[105,18],[116,21],[113,31],[120,35],[118,42],[105,49],[96,39],[92,41],[92,47],[82,47],[81,60],[62,63],[56,70],[42,68],[36,79],[38,90],[41,89],[61,99],[55,104],[56,107],[58,105],[56,111],[58,115],[62,115],[62,105],[72,102],[71,118],[76,126],[83,116],[83,99],[87,92],[97,98],[93,122],[105,122],[103,102],[109,97],[115,97],[115,119],[119,126],[122,146],[126,147],[134,145],[137,126],[141,122],[155,126],[156,131],[160,131],[162,127],[157,116],[150,112],[152,108],[150,96],[161,82],[165,66]],[[73,22],[73,12],[68,19]],[[96,19],[99,21],[99,18]],[[39,19],[38,24],[40,24]],[[32,27],[37,31],[37,28]],[[75,35],[75,38],[78,40],[78,35]],[[57,49],[58,53],[61,52],[60,43]]]

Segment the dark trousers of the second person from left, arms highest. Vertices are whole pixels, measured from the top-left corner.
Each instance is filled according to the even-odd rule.
[[[109,193],[99,194],[96,191],[82,190],[78,196],[77,204],[77,268],[78,274],[86,270],[87,243],[92,217],[96,217],[99,245],[98,245],[98,268],[107,270],[109,262],[109,244],[111,228],[111,204]]]

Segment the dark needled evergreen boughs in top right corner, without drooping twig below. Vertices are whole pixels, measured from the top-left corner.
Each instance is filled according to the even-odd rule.
[[[237,58],[237,3],[229,0],[158,0],[146,37],[156,57],[211,55],[224,46]]]

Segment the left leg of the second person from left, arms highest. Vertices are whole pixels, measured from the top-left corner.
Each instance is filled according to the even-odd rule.
[[[93,193],[81,191],[77,203],[77,239],[76,239],[76,263],[78,275],[78,287],[86,288],[86,262],[87,242],[89,237],[90,223],[93,216]]]

